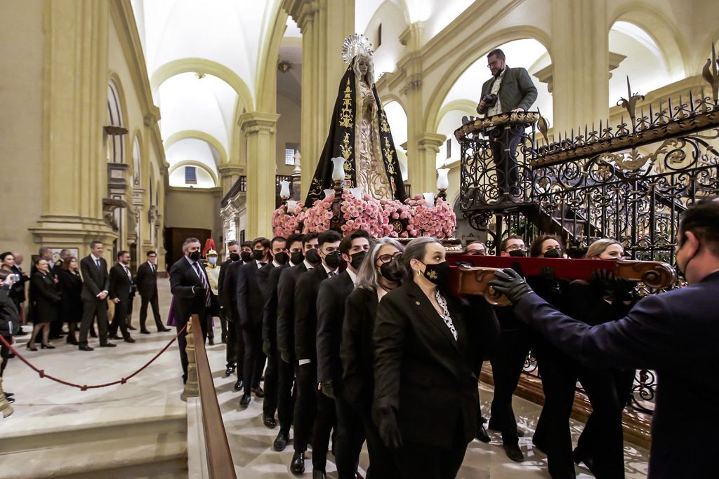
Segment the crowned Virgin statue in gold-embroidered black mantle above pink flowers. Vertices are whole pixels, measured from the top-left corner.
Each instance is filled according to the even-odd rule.
[[[377,200],[404,200],[405,191],[385,110],[377,96],[372,45],[359,34],[344,40],[347,70],[339,83],[329,135],[310,183],[306,205],[333,187],[331,159],[343,157],[344,188]]]

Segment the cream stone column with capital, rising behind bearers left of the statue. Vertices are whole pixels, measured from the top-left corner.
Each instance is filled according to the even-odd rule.
[[[239,127],[247,141],[247,235],[272,235],[275,210],[277,113],[244,113]]]

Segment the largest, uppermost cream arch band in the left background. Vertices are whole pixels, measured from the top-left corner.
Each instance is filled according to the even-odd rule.
[[[180,73],[194,72],[207,73],[224,80],[237,92],[237,96],[242,100],[244,108],[247,108],[248,111],[255,111],[255,102],[252,100],[252,92],[249,90],[247,83],[244,83],[244,80],[237,73],[234,73],[225,65],[206,58],[180,58],[180,60],[165,63],[165,65],[157,68],[155,73],[152,73],[150,87],[153,92],[156,92],[157,88],[160,88],[160,85],[168,78]]]

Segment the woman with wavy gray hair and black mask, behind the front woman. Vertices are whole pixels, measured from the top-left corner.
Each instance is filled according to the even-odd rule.
[[[377,304],[385,294],[397,288],[404,276],[404,246],[393,238],[380,238],[372,246],[357,273],[357,287],[347,297],[342,323],[342,358],[344,397],[362,417],[370,453],[370,474],[373,478],[395,478],[399,475],[392,452],[382,442],[372,422],[374,381],[374,345]]]

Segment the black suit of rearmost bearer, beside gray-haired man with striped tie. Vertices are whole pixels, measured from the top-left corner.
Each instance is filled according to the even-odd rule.
[[[242,261],[233,261],[220,269],[222,279],[221,290],[222,307],[227,318],[227,367],[237,365],[237,378],[244,375],[244,338],[242,327],[239,325],[239,312],[237,311],[237,273],[242,267]],[[218,280],[219,283],[219,280]]]

